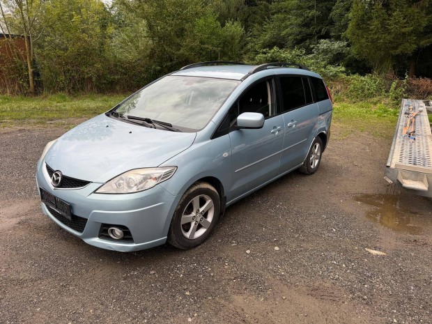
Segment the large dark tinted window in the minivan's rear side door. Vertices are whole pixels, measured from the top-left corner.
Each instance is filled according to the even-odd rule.
[[[282,112],[293,110],[306,105],[302,77],[281,77],[281,95],[284,100]]]

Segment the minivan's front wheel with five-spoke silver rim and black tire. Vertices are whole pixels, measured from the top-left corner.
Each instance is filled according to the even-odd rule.
[[[191,249],[204,242],[215,228],[220,197],[208,183],[195,183],[180,199],[169,227],[168,242],[179,249]]]

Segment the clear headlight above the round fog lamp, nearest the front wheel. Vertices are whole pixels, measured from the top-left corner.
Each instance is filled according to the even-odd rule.
[[[98,194],[129,194],[148,190],[171,178],[176,170],[177,167],[130,170],[109,180],[95,192]]]

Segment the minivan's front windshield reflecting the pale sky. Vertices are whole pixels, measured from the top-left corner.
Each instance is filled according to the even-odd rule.
[[[180,130],[201,130],[240,81],[167,76],[134,93],[116,112],[170,123]]]

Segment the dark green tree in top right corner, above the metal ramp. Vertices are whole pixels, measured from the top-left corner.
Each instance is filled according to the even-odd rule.
[[[432,43],[429,0],[354,0],[348,38],[355,53],[388,72],[396,56],[412,56]]]

